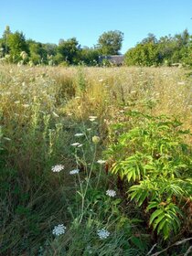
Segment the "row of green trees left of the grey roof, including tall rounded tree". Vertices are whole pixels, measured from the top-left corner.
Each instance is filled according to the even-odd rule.
[[[43,44],[26,39],[23,32],[11,32],[5,27],[0,38],[0,58],[11,63],[33,65],[78,65],[95,66],[101,55],[118,55],[123,43],[121,31],[108,31],[99,37],[93,48],[81,47],[76,37],[60,39],[59,44]]]

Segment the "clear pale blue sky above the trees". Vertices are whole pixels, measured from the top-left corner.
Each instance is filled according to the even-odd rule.
[[[122,53],[154,33],[157,38],[188,29],[192,0],[1,0],[0,35],[5,26],[42,43],[77,37],[93,47],[105,31],[124,33]]]

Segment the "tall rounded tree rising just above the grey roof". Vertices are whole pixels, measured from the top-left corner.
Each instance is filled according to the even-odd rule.
[[[122,48],[123,32],[119,30],[104,32],[98,40],[98,48],[103,55],[117,55]]]

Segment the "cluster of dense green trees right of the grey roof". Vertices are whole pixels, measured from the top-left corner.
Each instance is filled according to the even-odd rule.
[[[141,43],[126,52],[125,64],[128,66],[187,64],[190,59],[189,44],[187,29],[174,37],[169,35],[160,37],[159,40],[153,34],[149,34]]]

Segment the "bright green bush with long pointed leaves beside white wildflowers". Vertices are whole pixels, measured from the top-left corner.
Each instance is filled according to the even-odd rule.
[[[127,179],[129,197],[139,207],[144,204],[149,224],[166,240],[180,228],[181,208],[192,193],[190,147],[183,140],[190,133],[166,116],[126,114],[134,126],[118,123],[112,128],[118,134],[107,152],[112,173]]]

